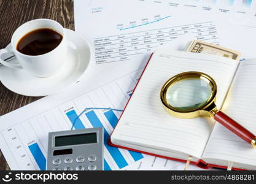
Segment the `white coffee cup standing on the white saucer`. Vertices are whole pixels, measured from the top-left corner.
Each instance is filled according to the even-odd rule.
[[[31,56],[18,52],[18,41],[29,32],[41,28],[50,28],[60,33],[63,36],[60,44],[52,51],[43,55]],[[29,72],[29,74],[36,77],[49,77],[58,72],[66,61],[65,58],[68,51],[68,44],[63,26],[54,20],[44,18],[28,21],[18,27],[12,35],[11,46],[12,48],[4,48],[0,50],[0,63],[13,69],[24,69],[26,72]],[[10,63],[1,59],[3,53],[13,53],[16,56],[18,63]]]

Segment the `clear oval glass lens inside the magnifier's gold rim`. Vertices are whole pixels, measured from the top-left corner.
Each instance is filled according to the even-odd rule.
[[[212,95],[212,88],[203,79],[182,79],[169,86],[166,100],[177,110],[194,110],[202,107]]]

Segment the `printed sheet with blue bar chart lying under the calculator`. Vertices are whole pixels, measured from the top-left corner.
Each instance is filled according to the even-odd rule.
[[[104,170],[126,169],[126,166],[145,158],[147,155],[107,144],[120,112],[111,109],[91,109],[83,112],[87,107],[124,109],[142,70],[141,68],[120,76],[1,131],[0,140],[6,144],[6,151],[10,153],[7,157],[10,168],[44,171],[48,132],[70,130],[75,120],[74,129],[104,128]]]

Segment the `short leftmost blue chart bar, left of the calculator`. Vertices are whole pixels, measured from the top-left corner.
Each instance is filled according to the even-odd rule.
[[[41,169],[41,171],[45,171],[46,167],[46,159],[44,154],[42,153],[39,145],[37,143],[31,144],[28,146],[29,150],[31,151],[34,159],[36,160],[37,165]]]

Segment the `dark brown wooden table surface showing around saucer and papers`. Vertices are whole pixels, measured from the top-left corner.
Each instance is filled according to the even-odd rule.
[[[0,48],[10,43],[18,26],[36,18],[50,18],[74,30],[73,8],[72,0],[0,0]],[[15,94],[0,82],[0,116],[37,99]],[[0,170],[10,170],[1,151]]]

